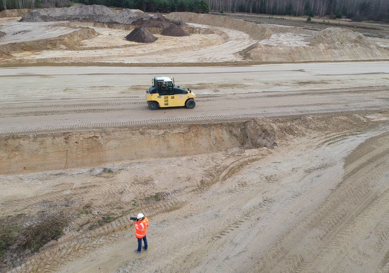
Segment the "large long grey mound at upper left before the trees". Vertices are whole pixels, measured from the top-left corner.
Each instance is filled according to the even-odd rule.
[[[101,5],[82,5],[59,9],[35,9],[22,17],[20,22],[95,21],[110,23],[115,14]]]

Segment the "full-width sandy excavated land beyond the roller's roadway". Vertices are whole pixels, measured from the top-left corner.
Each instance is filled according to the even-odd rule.
[[[131,25],[104,24],[93,22],[72,22],[71,26],[88,26],[98,35],[84,37],[80,43],[71,46],[37,48],[28,50],[26,47],[16,47],[17,50],[6,54],[3,52],[0,60],[2,65],[25,65],[39,63],[74,63],[86,64],[107,63],[121,65],[136,63],[147,65],[154,63],[185,65],[202,65],[233,62],[290,62],[290,61],[333,61],[333,60],[371,60],[389,59],[389,47],[385,39],[370,38],[365,46],[355,41],[348,41],[339,33],[330,35],[334,39],[345,42],[341,44],[310,44],[310,38],[318,32],[302,27],[283,26],[275,24],[256,25],[242,20],[230,19],[225,16],[205,16],[191,13],[172,13],[167,17],[181,19],[188,23],[191,36],[166,37],[156,30],[151,30],[158,40],[151,44],[128,42],[124,37],[133,29]],[[207,25],[201,25],[204,23]],[[3,23],[4,25],[5,23]],[[53,23],[8,23],[7,28],[15,28],[17,36],[24,40],[53,38],[69,30],[61,30]],[[29,26],[27,26],[29,25]],[[26,26],[26,29],[23,29]],[[31,28],[34,30],[31,32]],[[53,28],[53,29],[51,29]],[[205,31],[207,30],[207,31]],[[352,33],[351,31],[349,31]],[[30,34],[28,34],[30,33]],[[55,34],[54,34],[55,33]],[[19,41],[9,33],[1,43]],[[12,36],[12,37],[11,37]],[[23,39],[23,37],[25,39]],[[46,37],[47,36],[47,37]],[[53,36],[53,37],[52,37]],[[338,37],[339,36],[339,37]],[[340,37],[342,36],[342,37]],[[351,35],[352,36],[352,35]],[[11,38],[10,38],[11,37]],[[16,39],[14,39],[16,38]],[[70,49],[70,50],[69,50]]]

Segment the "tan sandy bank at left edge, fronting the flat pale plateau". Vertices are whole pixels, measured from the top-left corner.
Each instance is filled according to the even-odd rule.
[[[28,42],[17,42],[0,45],[0,56],[18,51],[37,51],[47,49],[78,49],[80,41],[99,35],[93,28],[82,28],[72,33],[52,39],[42,39]]]

